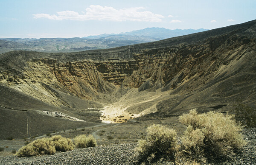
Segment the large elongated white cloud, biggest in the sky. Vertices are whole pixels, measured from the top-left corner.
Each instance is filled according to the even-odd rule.
[[[108,6],[91,5],[86,12],[79,14],[75,11],[59,11],[58,15],[33,14],[35,19],[47,18],[49,20],[109,20],[109,21],[146,21],[161,22],[164,18],[161,14],[145,11],[143,7],[115,9]]]

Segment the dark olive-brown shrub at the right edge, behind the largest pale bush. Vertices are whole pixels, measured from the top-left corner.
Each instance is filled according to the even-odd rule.
[[[241,101],[233,105],[233,112],[236,113],[235,119],[247,128],[256,127],[256,112],[252,107],[244,105]]]

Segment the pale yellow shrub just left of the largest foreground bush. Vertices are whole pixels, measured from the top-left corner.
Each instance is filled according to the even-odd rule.
[[[153,124],[148,127],[147,132],[145,140],[139,140],[138,146],[135,148],[137,161],[148,163],[161,157],[174,159],[176,131]]]

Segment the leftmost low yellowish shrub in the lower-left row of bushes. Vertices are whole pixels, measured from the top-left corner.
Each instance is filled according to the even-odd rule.
[[[55,146],[49,140],[49,138],[37,139],[26,146],[23,146],[17,152],[18,157],[31,157],[35,155],[43,154],[55,154]]]

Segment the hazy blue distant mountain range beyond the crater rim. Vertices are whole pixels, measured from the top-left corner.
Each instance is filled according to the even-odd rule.
[[[120,34],[101,34],[97,36],[75,38],[41,38],[0,39],[0,53],[12,50],[33,50],[44,52],[72,52],[93,49],[114,48],[125,45],[134,45],[144,42],[154,42],[161,39],[182,36],[186,34],[207,31],[207,29],[175,29],[145,28]]]

